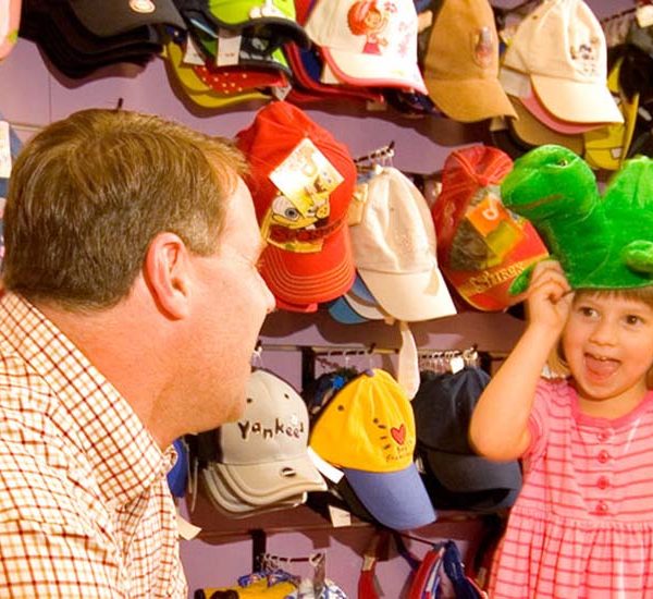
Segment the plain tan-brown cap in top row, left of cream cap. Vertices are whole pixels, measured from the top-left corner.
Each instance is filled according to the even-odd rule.
[[[498,36],[488,0],[447,0],[431,28],[423,58],[429,96],[456,121],[515,111],[498,83]]]

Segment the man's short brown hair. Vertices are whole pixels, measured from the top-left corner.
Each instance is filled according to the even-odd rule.
[[[72,310],[115,305],[158,233],[218,249],[244,171],[231,142],[152,114],[90,109],[52,123],[12,170],[4,286]]]

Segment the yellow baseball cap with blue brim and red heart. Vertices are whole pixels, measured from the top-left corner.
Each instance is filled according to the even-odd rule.
[[[435,512],[412,462],[415,419],[393,377],[366,370],[321,409],[310,448],[341,468],[369,513],[389,528],[426,526]]]

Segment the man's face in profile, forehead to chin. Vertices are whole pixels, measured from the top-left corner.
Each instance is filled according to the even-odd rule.
[[[257,269],[262,248],[251,195],[239,181],[217,254],[193,257],[196,331],[193,349],[180,358],[187,362],[196,432],[235,420],[244,409],[251,354],[266,315],[274,308],[274,296]]]

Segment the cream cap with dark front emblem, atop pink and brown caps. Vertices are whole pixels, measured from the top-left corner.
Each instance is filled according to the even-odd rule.
[[[624,120],[606,85],[605,35],[582,0],[539,4],[517,26],[502,64],[528,74],[542,103],[558,119]]]

